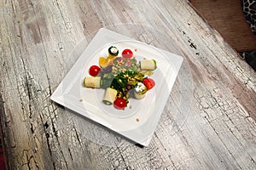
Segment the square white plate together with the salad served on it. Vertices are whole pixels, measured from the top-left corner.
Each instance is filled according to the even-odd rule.
[[[78,47],[71,56],[77,57],[84,45]],[[182,63],[182,56],[102,28],[50,99],[67,111],[147,146]],[[85,124],[89,127],[84,128],[84,136],[91,141],[109,140],[107,133],[102,135],[103,128]]]

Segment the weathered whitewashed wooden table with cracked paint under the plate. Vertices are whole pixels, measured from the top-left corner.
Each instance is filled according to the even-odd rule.
[[[255,71],[187,1],[2,1],[0,12],[9,169],[256,167]],[[184,58],[147,147],[49,99],[102,27]],[[90,128],[114,142],[91,138]]]

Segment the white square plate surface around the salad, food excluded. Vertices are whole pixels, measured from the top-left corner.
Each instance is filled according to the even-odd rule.
[[[90,66],[98,65],[99,57],[108,55],[108,48],[111,45],[119,48],[119,52],[125,48],[137,49],[134,55],[138,60],[155,59],[157,63],[157,69],[151,76],[155,87],[147,92],[144,99],[129,99],[130,102],[124,111],[114,109],[113,105],[102,103],[103,89],[84,88],[83,85],[84,77],[89,77]],[[147,146],[152,139],[166,100],[171,94],[182,62],[183,57],[177,54],[102,28],[96,33],[50,99],[137,144]]]

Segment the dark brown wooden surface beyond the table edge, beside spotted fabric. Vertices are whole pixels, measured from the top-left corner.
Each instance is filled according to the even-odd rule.
[[[199,14],[238,52],[253,51],[256,37],[242,12],[241,1],[189,1]]]

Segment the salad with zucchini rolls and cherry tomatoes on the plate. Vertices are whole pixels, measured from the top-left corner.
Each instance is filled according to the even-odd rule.
[[[125,48],[119,54],[118,48],[109,47],[108,56],[99,57],[98,65],[90,66],[90,77],[84,77],[84,87],[106,89],[102,102],[119,110],[127,107],[130,98],[143,99],[154,88],[155,82],[149,77],[157,65],[154,59],[137,61],[133,53]]]

